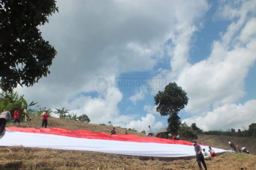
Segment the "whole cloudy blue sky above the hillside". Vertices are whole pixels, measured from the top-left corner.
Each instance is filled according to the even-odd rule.
[[[57,0],[39,27],[58,52],[51,74],[19,95],[90,123],[167,127],[154,96],[175,82],[182,122],[204,131],[256,122],[255,0]],[[50,120],[49,120],[50,121]]]

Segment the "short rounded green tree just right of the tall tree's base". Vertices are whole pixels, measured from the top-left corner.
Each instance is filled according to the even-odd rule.
[[[194,131],[191,127],[189,127],[186,123],[183,123],[179,130],[178,134],[182,140],[192,141],[197,139],[197,132]]]

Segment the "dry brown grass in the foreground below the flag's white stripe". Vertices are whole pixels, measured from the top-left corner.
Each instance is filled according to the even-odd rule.
[[[1,147],[0,169],[198,169],[194,159],[138,157],[24,147]],[[256,156],[224,153],[206,161],[208,169],[256,169]]]

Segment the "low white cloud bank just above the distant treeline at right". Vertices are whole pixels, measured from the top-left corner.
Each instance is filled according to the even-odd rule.
[[[224,104],[208,112],[204,117],[194,116],[184,119],[188,125],[196,123],[200,129],[227,130],[230,128],[248,128],[248,125],[256,122],[256,100],[249,100],[244,104]]]

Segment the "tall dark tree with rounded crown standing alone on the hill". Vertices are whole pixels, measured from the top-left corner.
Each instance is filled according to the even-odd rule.
[[[168,130],[177,133],[181,125],[178,113],[188,103],[187,93],[173,82],[166,85],[164,91],[158,91],[154,100],[157,105],[156,111],[161,116],[169,116]]]

